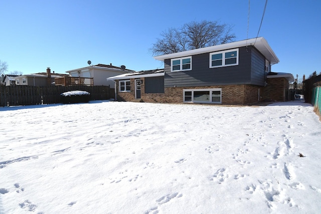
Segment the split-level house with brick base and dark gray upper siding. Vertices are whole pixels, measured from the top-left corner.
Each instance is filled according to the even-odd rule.
[[[116,82],[117,100],[227,105],[247,105],[261,100],[286,101],[289,82],[294,81],[292,74],[271,72],[271,65],[279,59],[262,37],[154,59],[165,63],[163,76],[157,77],[157,81],[164,78],[164,92],[149,93],[146,87],[156,79],[149,79],[146,72],[115,76],[108,80]],[[136,96],[139,80],[140,98]]]

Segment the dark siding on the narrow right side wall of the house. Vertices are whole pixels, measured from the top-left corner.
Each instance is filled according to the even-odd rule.
[[[264,86],[265,81],[265,57],[256,48],[252,48],[251,57],[251,84]]]

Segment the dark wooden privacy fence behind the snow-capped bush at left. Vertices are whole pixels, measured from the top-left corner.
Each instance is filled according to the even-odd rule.
[[[109,86],[0,86],[0,106],[61,103],[60,94],[67,91],[87,91],[91,100],[115,97],[114,89]]]

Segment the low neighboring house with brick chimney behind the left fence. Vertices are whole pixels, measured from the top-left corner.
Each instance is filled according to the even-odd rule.
[[[55,78],[62,76],[67,75],[51,73],[50,68],[47,68],[47,73],[20,75],[15,77],[15,80],[16,85],[49,86],[55,85]]]

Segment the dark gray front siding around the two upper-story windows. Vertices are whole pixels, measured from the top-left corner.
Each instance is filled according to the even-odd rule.
[[[193,55],[192,70],[184,72],[171,72],[171,59],[167,59],[165,60],[165,87],[252,84],[251,46],[239,48],[237,66],[221,68],[209,68],[209,66],[210,53]]]

